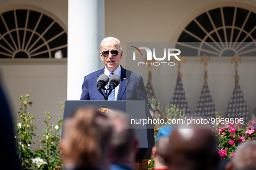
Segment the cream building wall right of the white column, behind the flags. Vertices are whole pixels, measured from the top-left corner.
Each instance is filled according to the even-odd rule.
[[[212,4],[216,6],[217,3],[221,6],[227,2],[230,2],[230,5],[244,3],[241,7],[256,8],[256,1],[253,0],[106,0],[105,35],[120,39],[124,54],[120,63],[126,67],[126,42],[175,42],[177,39],[174,37],[179,36],[175,33],[179,31],[178,29],[184,29],[185,23],[188,24],[193,17],[211,9]],[[113,4],[118,6],[115,10],[111,10]],[[114,26],[113,21],[117,22]],[[144,59],[141,59],[141,62],[143,61]],[[129,68],[129,66],[127,67]],[[152,67],[152,85],[156,98],[163,108],[171,101],[178,71],[177,66],[166,69]],[[208,64],[208,85],[215,107],[222,116],[227,110],[233,93],[234,70],[234,63],[231,65],[230,60],[217,60]],[[132,71],[142,75],[144,84],[146,84],[148,69]],[[191,112],[194,113],[204,82],[204,66],[200,63],[199,58],[198,60],[186,58],[185,65],[181,66],[181,72],[188,105]],[[238,66],[238,74],[244,98],[250,113],[252,113],[256,106],[256,59],[244,60],[242,58],[242,63],[239,63]]]

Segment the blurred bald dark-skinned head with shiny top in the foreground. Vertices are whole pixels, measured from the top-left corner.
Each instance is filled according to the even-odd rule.
[[[181,125],[176,128],[181,128]],[[213,170],[220,160],[211,129],[174,129],[170,136],[171,170]]]

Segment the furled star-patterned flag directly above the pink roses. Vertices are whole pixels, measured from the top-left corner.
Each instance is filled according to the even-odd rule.
[[[246,101],[243,98],[243,92],[237,79],[235,80],[235,88],[227,106],[227,112],[225,116],[234,119],[243,118],[243,122],[248,122],[250,120],[250,113]]]

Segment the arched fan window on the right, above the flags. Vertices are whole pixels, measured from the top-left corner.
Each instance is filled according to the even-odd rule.
[[[185,56],[256,57],[256,13],[230,5],[206,10],[185,26],[176,47]]]

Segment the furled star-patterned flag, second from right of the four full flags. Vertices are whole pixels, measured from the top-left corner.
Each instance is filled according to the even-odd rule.
[[[205,116],[208,118],[214,117],[215,118],[215,104],[214,101],[211,97],[210,89],[208,87],[207,82],[204,82],[202,91],[201,91],[201,96],[198,99],[198,104],[195,109],[194,115],[195,116]]]

